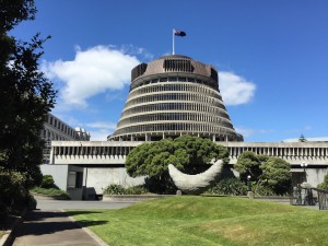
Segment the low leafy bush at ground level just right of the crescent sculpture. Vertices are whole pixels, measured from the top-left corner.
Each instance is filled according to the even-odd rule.
[[[206,194],[245,196],[247,194],[247,186],[238,178],[225,178],[209,188]]]

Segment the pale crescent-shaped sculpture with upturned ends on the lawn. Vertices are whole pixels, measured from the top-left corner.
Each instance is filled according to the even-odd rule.
[[[175,186],[185,194],[199,195],[204,191],[222,173],[223,162],[219,160],[203,173],[189,175],[168,165],[168,173]]]

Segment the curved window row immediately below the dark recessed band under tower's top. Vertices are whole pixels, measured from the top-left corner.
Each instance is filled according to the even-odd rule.
[[[177,83],[167,83],[167,84],[155,84],[151,86],[145,86],[138,89],[129,94],[129,98],[131,99],[134,96],[147,94],[147,93],[156,93],[156,92],[166,92],[166,91],[177,91],[177,92],[196,92],[196,93],[202,93],[206,96],[215,97],[218,99],[222,101],[221,95],[216,90],[207,87],[207,86],[199,86],[195,84],[177,84]]]

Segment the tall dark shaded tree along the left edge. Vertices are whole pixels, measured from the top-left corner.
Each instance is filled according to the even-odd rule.
[[[34,20],[33,0],[0,1],[0,166],[24,175],[26,188],[40,183],[43,129],[55,105],[52,83],[38,70],[42,39],[16,40],[8,33],[22,21]]]

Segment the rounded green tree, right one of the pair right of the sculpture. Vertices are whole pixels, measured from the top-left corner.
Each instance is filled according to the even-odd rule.
[[[278,195],[289,192],[291,188],[291,165],[279,157],[269,157],[262,163],[260,180]]]

